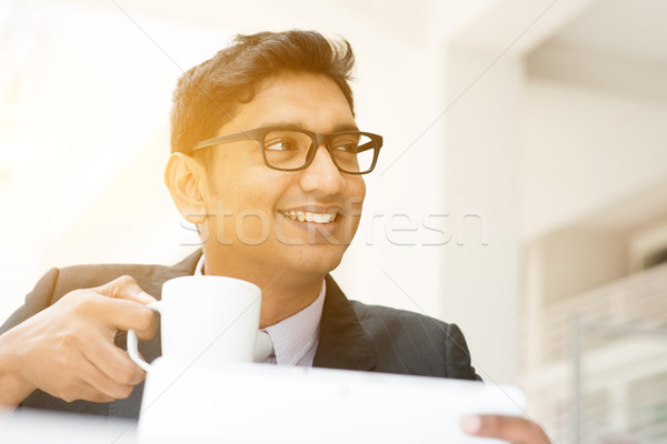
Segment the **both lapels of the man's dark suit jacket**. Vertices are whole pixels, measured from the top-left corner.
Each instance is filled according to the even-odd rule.
[[[173,278],[193,274],[201,254],[201,250],[197,250],[178,264],[162,269],[146,291],[160,299],[162,283]],[[351,302],[331,275],[327,274],[325,279],[327,295],[312,366],[346,370],[375,369],[375,356]]]

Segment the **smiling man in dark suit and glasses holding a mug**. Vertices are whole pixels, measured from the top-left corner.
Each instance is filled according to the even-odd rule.
[[[381,137],[359,131],[349,43],[317,32],[238,37],[179,81],[165,181],[202,251],[172,268],[49,271],[0,330],[0,403],[137,416],[145,373],[125,331],[160,354],[147,302],[186,274],[262,289],[267,362],[477,379],[456,325],[348,301],[328,273],[357,230]],[[151,295],[152,294],[152,295]],[[546,442],[521,418],[470,417],[469,432]]]

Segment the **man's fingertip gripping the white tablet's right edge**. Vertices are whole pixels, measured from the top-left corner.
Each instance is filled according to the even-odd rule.
[[[461,420],[464,432],[475,436],[495,437],[512,444],[549,444],[545,431],[522,417],[478,415]]]

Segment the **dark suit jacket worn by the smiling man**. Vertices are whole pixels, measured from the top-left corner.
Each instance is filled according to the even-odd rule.
[[[198,251],[173,266],[161,265],[77,265],[52,269],[37,283],[26,303],[0,327],[0,334],[53,304],[72,290],[102,285],[130,275],[149,294],[160,299],[162,283],[191,275],[201,255]],[[466,341],[455,324],[417,313],[348,301],[330,275],[320,323],[319,345],[312,365],[411,375],[479,379],[470,366]],[[126,347],[126,332],[116,335]],[[161,354],[160,331],[151,341],[140,343],[141,354],[151,361]],[[137,417],[143,383],[127,400],[111,403],[64,402],[40,390],[22,406]]]

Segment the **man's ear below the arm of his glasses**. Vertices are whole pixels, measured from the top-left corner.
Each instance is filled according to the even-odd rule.
[[[190,223],[206,221],[206,204],[201,192],[202,168],[191,157],[177,152],[169,157],[165,184],[181,215]]]

